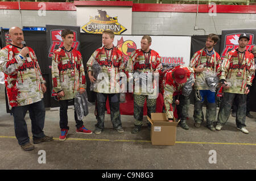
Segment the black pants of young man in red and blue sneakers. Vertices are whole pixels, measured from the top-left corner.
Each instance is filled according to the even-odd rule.
[[[75,99],[69,100],[59,100],[60,104],[60,129],[69,129],[68,127],[68,102],[72,101],[74,104]],[[77,119],[76,110],[75,110],[75,121],[76,121],[76,128],[79,129],[84,124],[82,120]]]

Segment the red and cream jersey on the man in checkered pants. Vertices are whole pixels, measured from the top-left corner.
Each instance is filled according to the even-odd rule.
[[[145,73],[146,75],[150,73],[154,76],[154,72],[162,70],[162,61],[158,52],[151,50],[150,52],[143,52],[142,49],[137,49],[131,53],[125,71],[128,73],[134,73],[133,76],[129,76],[129,79],[135,77],[135,73]],[[158,74],[159,75],[159,74]],[[156,75],[157,76],[157,75]],[[154,81],[154,78],[151,78]],[[134,91],[133,94],[137,95],[155,95],[158,93],[158,82],[152,82],[152,87],[150,91],[145,88],[141,83],[139,84],[138,89],[136,88],[137,81],[134,80]],[[143,90],[144,87],[144,90]]]

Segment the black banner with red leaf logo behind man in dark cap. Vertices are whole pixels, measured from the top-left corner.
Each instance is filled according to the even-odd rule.
[[[237,29],[237,30],[222,30],[221,35],[221,47],[220,47],[220,56],[223,58],[226,56],[226,53],[233,49],[238,48],[238,39],[242,33],[246,33],[250,36],[249,43],[246,46],[246,50],[251,50],[256,44],[256,28],[249,29]]]

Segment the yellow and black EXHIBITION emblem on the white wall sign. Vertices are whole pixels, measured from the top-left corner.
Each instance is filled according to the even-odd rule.
[[[104,30],[111,30],[115,35],[121,35],[127,29],[118,23],[117,16],[110,17],[106,11],[98,10],[98,15],[90,16],[90,21],[81,27],[86,33],[101,34]]]

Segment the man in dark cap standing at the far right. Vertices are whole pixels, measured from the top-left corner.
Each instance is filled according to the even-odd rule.
[[[243,133],[249,133],[245,128],[246,95],[249,93],[249,88],[255,74],[254,56],[246,50],[249,40],[250,36],[242,33],[238,39],[239,47],[228,52],[221,64],[220,81],[224,88],[224,95],[220,111],[218,112],[216,125],[218,131],[228,121],[234,99],[238,99],[236,115],[237,129]],[[231,86],[228,86],[227,82],[230,82]]]

